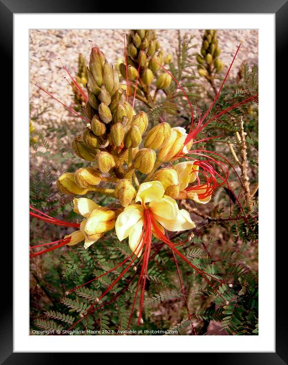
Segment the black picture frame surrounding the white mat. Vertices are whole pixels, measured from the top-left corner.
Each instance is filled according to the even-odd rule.
[[[275,14],[276,21],[276,66],[278,66],[278,72],[276,73],[276,106],[286,105],[286,92],[280,91],[281,85],[288,85],[287,83],[287,71],[283,72],[283,67],[286,68],[285,50],[288,34],[288,1],[287,0],[190,0],[189,3],[184,0],[178,0],[172,2],[170,0],[158,1],[149,4],[145,2],[145,9],[137,9],[134,4],[119,2],[118,5],[113,4],[114,13],[119,10],[119,13],[123,10],[133,9],[133,12],[139,11],[143,13],[143,10],[150,10],[151,13],[270,13]],[[139,3],[140,4],[140,3]],[[102,5],[100,2],[91,2],[88,0],[57,0],[57,2],[51,2],[47,0],[0,0],[0,44],[2,60],[4,61],[7,72],[2,73],[2,100],[8,103],[12,100],[12,97],[7,97],[7,87],[12,86],[11,75],[13,74],[13,14],[14,13],[108,13],[111,5]],[[147,11],[146,11],[147,12]],[[145,13],[145,12],[144,12]],[[112,26],[111,26],[112,28]],[[284,65],[285,64],[285,65]],[[8,69],[10,72],[8,72]],[[12,95],[12,94],[11,94]],[[273,97],[273,95],[271,95]],[[9,119],[11,119],[11,111],[13,106],[6,105],[5,109],[9,111]],[[279,115],[278,108],[278,115]],[[277,115],[277,114],[276,114]],[[272,123],[272,122],[271,122]],[[273,127],[271,125],[271,127]],[[14,131],[17,133],[17,131]],[[270,192],[271,193],[271,192]],[[271,217],[273,219],[274,217]],[[10,241],[10,240],[9,240]],[[283,242],[285,244],[285,242]],[[283,245],[286,246],[286,245]],[[275,364],[282,365],[288,364],[288,316],[287,310],[284,310],[282,297],[283,292],[280,290],[284,283],[283,276],[280,273],[281,268],[286,267],[286,255],[283,254],[283,250],[286,248],[281,247],[277,250],[276,258],[276,352],[275,353],[193,353],[191,357],[192,361],[200,360],[213,361],[213,363],[224,364]],[[6,257],[12,258],[12,245],[5,246]],[[12,265],[10,266],[12,268]],[[67,355],[64,353],[16,353],[13,352],[13,303],[12,303],[12,269],[10,269],[11,275],[5,273],[5,280],[3,280],[2,293],[5,293],[5,300],[2,300],[2,310],[0,314],[1,318],[1,338],[0,338],[0,361],[5,364],[45,364],[52,361],[59,360],[61,357],[64,361],[67,361]],[[285,275],[286,276],[286,275]],[[267,293],[267,295],[273,295],[273,293]],[[10,302],[9,302],[10,300]],[[149,350],[149,349],[146,349]],[[227,349],[228,351],[229,349]],[[37,351],[37,349],[35,349]],[[64,359],[65,356],[65,359]],[[76,361],[76,357],[80,358],[81,353],[73,353],[73,360]],[[95,356],[95,354],[94,354]],[[135,354],[137,356],[137,354]],[[96,358],[95,358],[96,361]]]

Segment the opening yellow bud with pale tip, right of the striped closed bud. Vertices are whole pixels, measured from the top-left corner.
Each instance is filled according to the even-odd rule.
[[[158,152],[158,160],[167,162],[173,159],[184,147],[187,133],[182,127],[171,128],[170,138]]]

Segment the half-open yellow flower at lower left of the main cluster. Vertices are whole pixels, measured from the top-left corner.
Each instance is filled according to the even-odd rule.
[[[68,234],[71,241],[68,245],[76,245],[84,241],[84,248],[88,248],[94,242],[99,240],[103,234],[114,228],[115,213],[104,206],[96,204],[93,200],[87,198],[74,199],[74,212],[81,214],[84,219],[80,224],[80,230]]]

